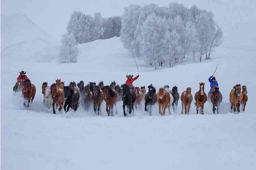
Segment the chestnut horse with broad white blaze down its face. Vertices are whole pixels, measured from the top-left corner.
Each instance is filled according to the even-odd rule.
[[[201,107],[201,114],[203,115],[203,108],[204,108],[204,103],[207,101],[207,95],[204,92],[204,82],[199,83],[199,90],[195,94],[195,106],[197,107],[197,114],[199,107]]]

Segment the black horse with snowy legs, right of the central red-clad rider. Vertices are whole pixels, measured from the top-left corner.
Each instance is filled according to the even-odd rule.
[[[148,92],[145,95],[145,112],[152,115],[152,106],[156,104],[156,88],[151,84],[148,86]]]

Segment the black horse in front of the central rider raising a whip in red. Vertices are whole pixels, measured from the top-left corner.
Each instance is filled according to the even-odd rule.
[[[127,108],[129,109],[129,114],[131,114],[131,112],[134,115],[134,103],[136,100],[136,93],[134,92],[134,90],[130,89],[130,86],[128,84],[123,84],[121,86],[122,88],[122,100],[123,100],[123,110],[124,110],[124,116],[126,116],[126,112],[125,112],[125,106],[127,106]]]

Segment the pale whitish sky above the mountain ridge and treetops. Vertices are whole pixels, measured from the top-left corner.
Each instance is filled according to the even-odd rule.
[[[246,14],[255,12],[255,0],[176,0],[182,2],[186,7],[196,4],[199,8],[204,8],[208,11],[213,11],[215,19],[220,24],[226,24],[223,21],[233,15],[237,8],[243,11],[246,6]],[[231,3],[229,3],[229,2]],[[93,15],[95,12],[101,12],[103,17],[113,15],[122,15],[124,6],[130,3],[140,5],[148,3],[157,3],[159,6],[168,5],[171,0],[1,0],[1,15],[11,16],[15,13],[25,14],[31,19],[39,28],[59,41],[61,34],[66,32],[67,22],[71,13],[81,11],[85,14]],[[214,2],[215,5],[212,5]],[[253,5],[251,4],[253,2]],[[231,6],[230,11],[226,11],[227,6]],[[243,6],[241,6],[243,5]],[[217,7],[218,6],[218,7]],[[219,6],[225,6],[223,11]],[[248,10],[249,9],[249,10]],[[223,15],[223,13],[225,15]],[[241,22],[241,15],[244,13],[237,13],[232,22]],[[240,17],[240,19],[238,18]],[[237,21],[234,21],[237,20]]]

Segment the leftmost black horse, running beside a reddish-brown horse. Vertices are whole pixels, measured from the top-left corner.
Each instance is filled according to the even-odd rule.
[[[79,92],[76,90],[73,90],[69,86],[64,86],[64,99],[65,99],[65,104],[64,104],[64,111],[67,113],[69,111],[69,108],[71,107],[74,109],[74,111],[77,110],[79,107]],[[67,110],[66,107],[68,106]]]

